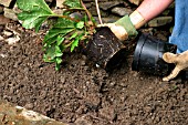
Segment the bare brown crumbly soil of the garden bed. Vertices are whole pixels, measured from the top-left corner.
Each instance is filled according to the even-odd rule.
[[[20,41],[0,41],[1,98],[77,125],[188,124],[188,82],[180,76],[161,82],[132,71],[132,53],[106,73],[90,65],[80,50],[65,53],[56,72],[42,60],[42,31],[36,34],[15,22],[8,27],[20,33]]]

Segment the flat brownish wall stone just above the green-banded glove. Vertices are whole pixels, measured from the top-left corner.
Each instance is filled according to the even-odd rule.
[[[132,9],[122,8],[122,7],[115,7],[112,9],[112,13],[115,13],[122,17],[126,14],[130,14],[132,12],[133,12]]]

